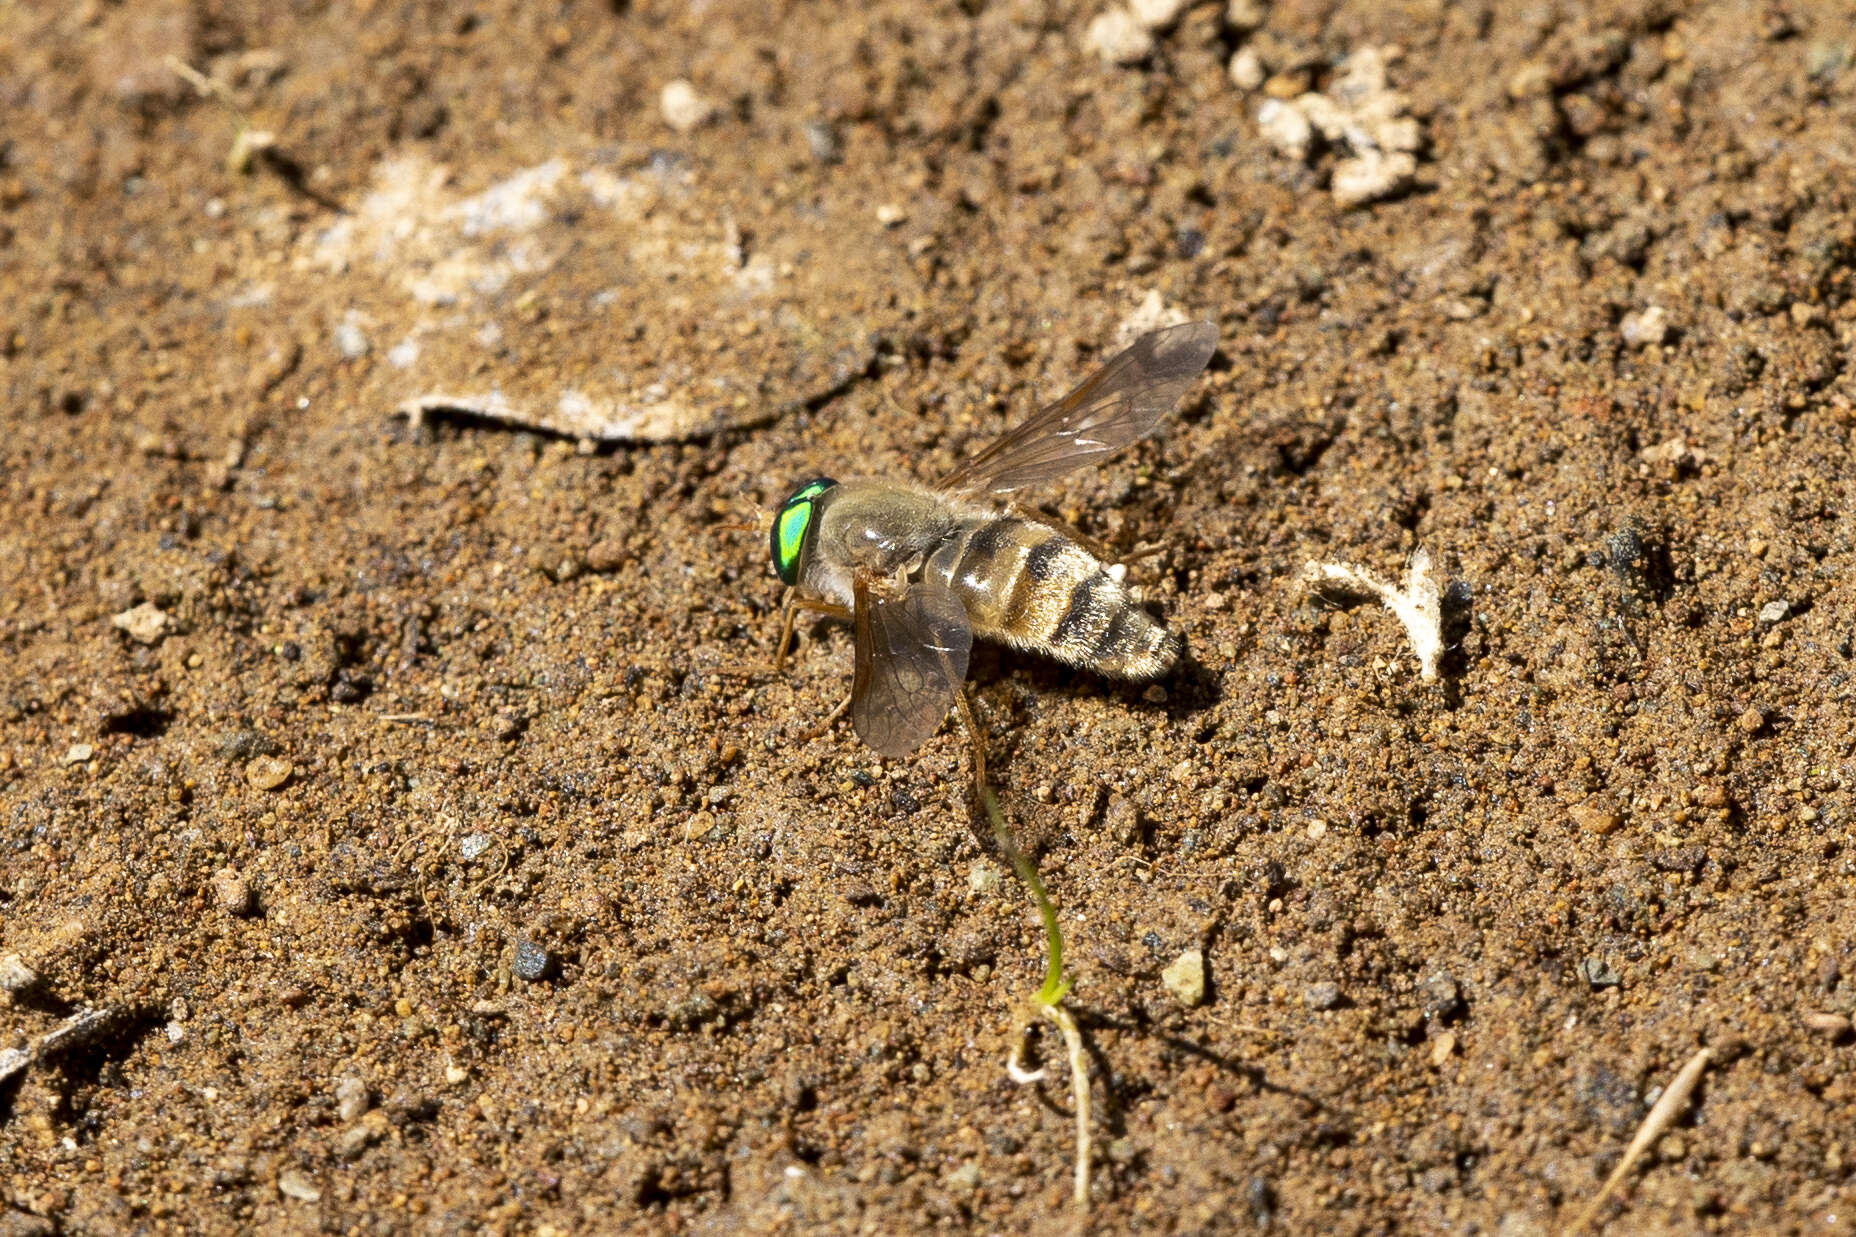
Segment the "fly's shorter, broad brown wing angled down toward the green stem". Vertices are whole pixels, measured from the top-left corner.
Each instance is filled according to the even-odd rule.
[[[935,732],[967,678],[967,607],[941,585],[885,598],[856,589],[857,665],[850,723],[882,756],[908,756]]]

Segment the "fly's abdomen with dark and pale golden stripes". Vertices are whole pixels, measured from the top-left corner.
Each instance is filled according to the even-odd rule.
[[[1173,669],[1179,637],[1134,604],[1095,555],[1017,516],[961,520],[922,565],[965,604],[973,633],[1110,678]]]

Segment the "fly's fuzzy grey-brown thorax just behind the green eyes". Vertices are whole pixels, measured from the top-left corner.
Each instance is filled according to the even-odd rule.
[[[848,605],[854,576],[880,579],[913,568],[956,529],[960,516],[954,500],[915,485],[843,481],[818,503],[800,585]]]

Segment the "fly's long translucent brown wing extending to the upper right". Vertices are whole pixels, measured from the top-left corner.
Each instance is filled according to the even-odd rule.
[[[1179,403],[1216,347],[1218,325],[1208,321],[1143,334],[1082,386],[956,468],[941,487],[1010,494],[1140,442]]]

